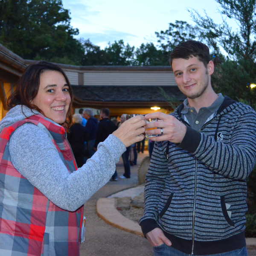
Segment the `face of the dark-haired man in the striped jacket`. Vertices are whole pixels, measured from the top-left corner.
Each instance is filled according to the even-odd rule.
[[[198,57],[193,56],[188,60],[178,58],[172,61],[172,70],[180,91],[189,99],[203,96],[211,87],[210,75],[214,71],[212,61],[209,61],[206,68],[204,63],[198,60]]]

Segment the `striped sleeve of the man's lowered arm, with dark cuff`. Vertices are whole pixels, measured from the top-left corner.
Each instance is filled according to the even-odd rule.
[[[154,150],[151,156],[148,173],[146,175],[144,215],[139,221],[144,236],[146,233],[158,227],[157,205],[165,189],[166,179],[169,177],[168,162],[163,154],[166,143],[166,141],[163,143],[154,143]]]

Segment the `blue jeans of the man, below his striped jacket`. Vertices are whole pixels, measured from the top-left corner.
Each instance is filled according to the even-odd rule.
[[[153,250],[154,256],[191,256],[191,254],[182,253],[179,250],[174,249],[172,246],[167,246],[166,244],[154,246]],[[207,256],[248,256],[248,254],[246,247],[243,247],[227,253],[209,254]]]

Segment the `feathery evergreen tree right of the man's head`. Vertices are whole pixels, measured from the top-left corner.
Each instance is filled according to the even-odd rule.
[[[216,0],[222,23],[216,24],[207,14],[205,17],[195,10],[189,10],[192,19],[201,28],[205,38],[215,53],[222,55],[222,64],[216,67],[212,84],[218,92],[233,99],[246,101],[256,109],[256,0]],[[234,18],[239,30],[233,31],[227,20]]]

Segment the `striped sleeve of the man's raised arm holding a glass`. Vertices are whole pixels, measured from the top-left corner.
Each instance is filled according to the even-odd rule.
[[[245,111],[237,118],[230,144],[187,129],[178,147],[193,153],[212,171],[236,180],[245,180],[256,162],[256,113]],[[227,124],[228,125],[228,124]]]

